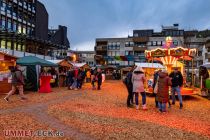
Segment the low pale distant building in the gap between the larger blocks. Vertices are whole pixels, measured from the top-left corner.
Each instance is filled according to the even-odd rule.
[[[94,51],[73,51],[76,55],[76,61],[79,63],[86,63],[89,66],[95,66],[95,52]]]

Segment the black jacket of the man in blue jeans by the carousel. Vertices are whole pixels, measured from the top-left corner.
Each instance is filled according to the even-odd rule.
[[[182,86],[183,85],[183,77],[181,72],[172,72],[169,77],[172,78],[171,82],[172,82],[172,87],[177,87],[177,86]]]

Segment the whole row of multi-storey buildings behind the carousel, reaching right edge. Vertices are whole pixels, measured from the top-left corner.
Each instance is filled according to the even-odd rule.
[[[161,32],[154,32],[153,29],[133,30],[132,37],[97,38],[96,64],[131,66],[135,62],[146,62],[145,50],[163,47],[168,36],[172,37],[174,47],[197,49],[197,55],[193,61],[185,62],[188,72],[191,72],[192,65],[193,69],[198,70],[198,67],[206,62],[203,48],[207,37],[210,36],[208,31],[185,31],[179,29],[178,24],[173,24],[173,26],[162,26]]]

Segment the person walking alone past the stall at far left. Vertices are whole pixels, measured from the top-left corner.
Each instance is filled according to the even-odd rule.
[[[9,102],[9,97],[15,93],[16,89],[19,91],[21,100],[27,99],[23,93],[24,76],[20,70],[20,66],[16,65],[15,70],[12,72],[12,90],[4,98],[5,101]]]

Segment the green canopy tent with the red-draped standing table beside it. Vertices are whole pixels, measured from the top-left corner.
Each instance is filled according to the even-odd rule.
[[[57,67],[57,64],[36,56],[19,58],[17,64],[26,67],[25,88],[27,90],[39,91],[40,93],[51,92],[50,80],[52,79],[52,75],[41,69],[41,67]]]

